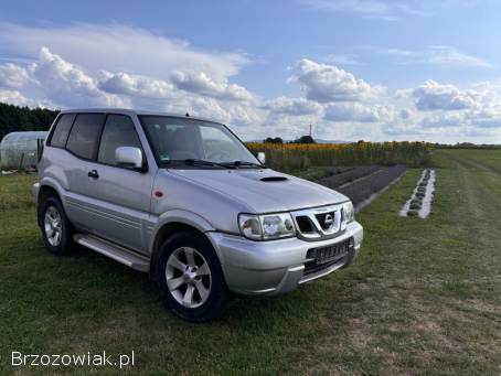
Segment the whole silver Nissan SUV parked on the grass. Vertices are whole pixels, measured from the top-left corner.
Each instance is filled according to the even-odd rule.
[[[215,318],[231,292],[283,293],[348,266],[363,237],[345,196],[188,114],[62,111],[33,196],[50,251],[82,245],[149,272],[191,321]]]

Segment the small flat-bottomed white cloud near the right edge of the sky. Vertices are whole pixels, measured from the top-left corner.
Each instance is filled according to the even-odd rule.
[[[416,98],[416,108],[422,111],[475,109],[480,106],[475,92],[460,90],[433,79],[413,89],[412,94]]]

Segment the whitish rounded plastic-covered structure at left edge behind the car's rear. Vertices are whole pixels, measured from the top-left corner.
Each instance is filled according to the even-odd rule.
[[[12,132],[0,143],[0,159],[3,170],[24,170],[36,166],[36,140],[45,140],[49,132]]]

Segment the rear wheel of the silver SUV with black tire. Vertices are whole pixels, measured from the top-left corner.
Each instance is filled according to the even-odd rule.
[[[73,241],[72,224],[67,219],[63,204],[58,197],[49,196],[41,204],[39,224],[42,230],[43,243],[50,253],[62,256],[68,255],[74,250],[75,244]]]

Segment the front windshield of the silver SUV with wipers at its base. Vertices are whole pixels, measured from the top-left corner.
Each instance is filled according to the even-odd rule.
[[[140,119],[161,165],[195,164],[194,161],[218,166],[258,164],[250,151],[223,125],[168,116],[140,116]]]

